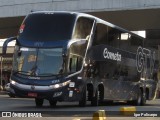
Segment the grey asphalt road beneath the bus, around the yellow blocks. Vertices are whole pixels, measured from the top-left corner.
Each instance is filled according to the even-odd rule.
[[[148,101],[145,106],[136,106],[137,112],[130,117],[120,113],[121,107],[130,107],[130,105],[123,102],[113,104],[104,102],[102,106],[92,107],[88,102],[86,107],[79,107],[78,102],[58,102],[55,108],[51,108],[48,101],[45,100],[43,107],[37,108],[34,99],[10,98],[8,95],[0,95],[0,116],[2,116],[2,112],[11,112],[12,114],[12,118],[0,117],[0,120],[51,120],[53,118],[54,120],[90,120],[93,113],[98,110],[105,110],[107,120],[160,120],[160,99]],[[18,114],[23,118],[17,117]],[[31,118],[28,118],[28,114],[31,115]],[[159,117],[135,117],[138,114],[157,114]],[[32,118],[34,115],[39,118]]]

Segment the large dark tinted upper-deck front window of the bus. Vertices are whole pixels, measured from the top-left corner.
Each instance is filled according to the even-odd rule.
[[[20,27],[19,39],[67,40],[71,39],[75,15],[30,14]]]

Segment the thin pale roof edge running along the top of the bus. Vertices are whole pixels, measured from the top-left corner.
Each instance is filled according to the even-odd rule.
[[[133,35],[135,35],[135,36],[137,36],[137,37],[140,37],[141,39],[144,39],[143,37],[141,37],[141,36],[139,36],[139,35],[137,35],[137,34],[135,34],[135,33],[133,33],[133,32],[130,32],[130,31],[128,31],[128,30],[126,30],[126,29],[124,29],[124,28],[122,28],[122,27],[119,27],[119,26],[114,25],[114,24],[112,24],[112,23],[110,23],[110,22],[107,22],[107,21],[105,21],[105,20],[102,20],[102,19],[100,19],[100,18],[98,18],[98,17],[95,17],[95,16],[93,16],[93,15],[89,15],[89,14],[86,14],[86,13],[71,12],[71,11],[33,11],[31,14],[34,14],[34,13],[48,13],[48,14],[58,13],[58,14],[74,14],[74,15],[76,15],[77,17],[83,16],[83,17],[87,17],[87,18],[94,19],[94,20],[96,20],[97,23],[103,23],[103,24],[105,24],[105,25],[107,25],[107,26],[110,26],[110,27],[113,27],[113,28],[117,28],[117,29],[119,29],[119,30],[121,30],[121,31],[124,31],[124,32],[130,33],[130,34],[133,34]]]

